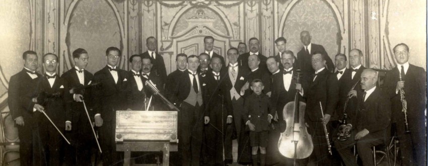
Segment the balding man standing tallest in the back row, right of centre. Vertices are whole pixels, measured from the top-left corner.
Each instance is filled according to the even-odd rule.
[[[311,43],[312,36],[308,31],[302,31],[300,33],[300,41],[303,43],[303,48],[297,53],[297,59],[299,64],[297,65],[300,70],[307,73],[314,73],[314,69],[311,65],[311,57],[315,52],[319,52],[323,59],[326,61],[326,69],[329,72],[333,72],[334,65],[331,61],[324,47],[321,45]]]

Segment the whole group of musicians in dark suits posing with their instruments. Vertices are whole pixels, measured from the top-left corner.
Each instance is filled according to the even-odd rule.
[[[222,56],[213,51],[215,39],[206,36],[204,52],[176,55],[177,70],[169,75],[154,37],[147,39],[147,52],[130,56],[130,71],[118,68],[122,55],[116,47],[106,50],[107,65],[95,74],[86,70],[91,54],[76,49],[75,66],[61,76],[57,55],[26,51],[24,68],[10,79],[8,99],[19,131],[21,164],[92,165],[97,146],[103,165],[122,164],[123,154],[115,147],[115,111],[144,110],[149,98],[149,110],[171,108],[146,81],[180,110],[174,165],[231,163],[234,139],[242,164],[374,165],[372,147],[387,143],[391,135],[400,142],[402,165],[425,164],[426,72],[408,63],[409,47],[394,47],[397,66],[379,86],[378,70],[363,66],[368,55],[361,50],[337,54],[333,64],[308,31],[300,39],[303,48],[297,54],[280,37],[274,41],[276,56],[262,55],[257,38],[248,41],[249,52],[246,43],[239,43]],[[43,74],[36,72],[38,58]],[[284,106],[297,98],[306,103],[302,131],[286,123],[294,115],[285,113]],[[341,132],[341,124],[351,129]],[[313,147],[308,157],[296,161],[280,152],[278,141],[289,129],[306,131],[312,144],[301,141],[288,153]]]

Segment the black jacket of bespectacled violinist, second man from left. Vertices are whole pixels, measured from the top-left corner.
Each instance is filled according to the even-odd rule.
[[[55,77],[55,81],[53,86],[50,87],[49,81],[46,76],[43,76],[41,79],[41,86],[39,87],[39,93],[46,92],[47,95],[59,94],[57,97],[49,97],[46,99],[46,103],[43,104],[45,108],[46,114],[49,118],[55,123],[55,125],[59,128],[65,127],[65,101],[68,101],[67,97],[69,95],[66,91],[68,91],[68,87],[65,83],[65,80],[60,78],[59,76]],[[43,119],[41,121],[45,121],[50,123],[48,119]],[[50,124],[49,124],[50,125]]]

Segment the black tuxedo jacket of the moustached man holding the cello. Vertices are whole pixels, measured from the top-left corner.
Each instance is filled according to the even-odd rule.
[[[290,88],[289,91],[286,90],[286,88],[284,87],[284,81],[283,81],[283,74],[282,74],[282,70],[279,71],[279,73],[273,74],[270,76],[271,78],[271,89],[272,89],[272,93],[270,96],[270,99],[272,100],[272,104],[275,107],[275,110],[278,113],[278,118],[280,120],[284,120],[283,119],[283,109],[284,106],[291,102],[294,101],[295,99],[295,95],[296,95],[296,83],[297,83],[297,73],[296,70],[293,70],[293,76],[292,76],[292,80],[291,80],[291,84],[290,84]],[[306,79],[304,79],[307,76],[304,76],[304,74],[302,74],[302,78],[300,79],[300,83],[302,85],[303,88],[303,94],[304,96],[299,94],[299,101],[302,102],[306,102],[306,91],[308,91],[308,86],[309,83]]]

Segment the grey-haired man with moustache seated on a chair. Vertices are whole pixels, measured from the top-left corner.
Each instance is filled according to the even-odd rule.
[[[389,141],[391,101],[379,87],[378,74],[365,69],[361,74],[363,93],[358,93],[358,112],[351,136],[345,141],[335,141],[336,148],[345,165],[358,165],[351,148],[356,144],[363,165],[374,165],[372,147]]]

